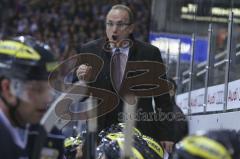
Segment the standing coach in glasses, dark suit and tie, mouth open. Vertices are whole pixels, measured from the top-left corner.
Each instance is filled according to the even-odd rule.
[[[128,70],[129,67],[129,62],[154,61],[162,63],[162,58],[158,48],[150,44],[137,41],[132,37],[132,32],[134,29],[133,22],[133,13],[128,7],[124,5],[113,6],[106,17],[107,38],[101,38],[95,41],[91,41],[83,45],[79,50],[80,53],[93,53],[98,57],[101,57],[104,62],[103,68],[97,76],[95,82],[92,83],[92,86],[107,89],[112,92],[121,91],[121,88],[123,88],[124,85],[124,77],[126,76],[121,77],[122,81],[120,80],[120,86],[117,86],[116,84],[114,84],[114,80],[112,80],[113,75],[111,75],[111,71],[114,71],[112,69],[111,60],[117,49],[126,57],[125,62],[122,63],[123,68],[119,68],[119,74],[122,71],[120,69],[125,70],[126,73],[126,70]],[[130,43],[128,43],[130,45],[128,47],[117,46],[118,42],[124,39],[130,39]],[[104,49],[104,46],[106,46],[106,42],[110,42],[110,51],[107,50],[108,48]],[[80,63],[79,65],[80,66],[76,71],[77,77],[79,79],[91,81],[91,73],[94,69],[93,66],[85,65],[84,63]],[[157,72],[158,69],[159,68],[154,68],[153,72]],[[161,77],[165,78],[165,75]],[[153,77],[148,78],[151,79]],[[172,105],[170,102],[169,94],[167,92],[155,96],[154,101],[156,114],[160,113],[160,111],[162,111],[163,113],[172,112]],[[121,122],[119,121],[119,117],[121,116],[123,109],[122,103],[122,100],[120,100],[119,105],[113,111],[98,118],[99,129],[106,128],[113,123]],[[151,120],[153,118],[151,118],[150,116],[154,113],[152,97],[140,98],[138,101],[137,112],[138,115],[140,115],[140,117],[138,118],[139,120],[137,120],[136,123],[137,128],[139,128],[143,134],[151,136],[159,142],[161,141],[164,148],[168,152],[171,152],[174,136],[172,124],[171,122],[168,122],[166,120],[161,121],[161,119]]]

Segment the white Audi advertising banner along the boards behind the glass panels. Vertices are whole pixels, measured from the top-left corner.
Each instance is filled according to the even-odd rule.
[[[203,112],[204,88],[191,92],[191,113]],[[227,109],[240,108],[240,80],[228,84]],[[177,95],[177,104],[188,113],[188,92]],[[224,84],[208,87],[206,111],[221,111],[224,108]]]

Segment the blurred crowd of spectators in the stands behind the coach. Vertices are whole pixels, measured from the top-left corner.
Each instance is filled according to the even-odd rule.
[[[105,35],[105,16],[117,3],[135,11],[135,37],[147,41],[149,0],[1,0],[0,39],[32,35],[48,43],[62,60],[81,44]]]

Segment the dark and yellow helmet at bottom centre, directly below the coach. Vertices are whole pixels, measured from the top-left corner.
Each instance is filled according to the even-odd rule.
[[[121,157],[124,145],[124,134],[122,132],[109,133],[97,147],[97,158],[103,156],[107,159],[117,159]],[[163,149],[153,139],[146,136],[134,135],[131,159],[162,159]]]

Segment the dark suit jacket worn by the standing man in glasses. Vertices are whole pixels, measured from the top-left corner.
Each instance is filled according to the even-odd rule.
[[[111,83],[110,77],[110,60],[111,53],[103,50],[103,46],[106,40],[104,38],[98,39],[95,41],[91,41],[78,50],[81,53],[93,53],[101,57],[104,61],[103,68],[99,73],[96,81],[92,83],[92,86],[103,88],[115,92]],[[154,47],[150,44],[140,42],[137,40],[133,40],[133,46],[129,50],[128,61],[157,61],[163,62],[161,58],[160,51],[157,47]],[[78,65],[80,65],[78,63]],[[126,66],[128,67],[128,66]],[[158,70],[160,68],[156,68]],[[76,76],[76,75],[75,75]],[[165,75],[162,76],[165,78]],[[75,77],[76,78],[76,77]],[[151,77],[149,77],[151,78]],[[168,113],[172,112],[173,107],[170,102],[170,97],[168,93],[162,94],[154,98],[156,108],[160,108],[162,112]],[[122,101],[120,101],[119,105],[110,113],[105,114],[98,118],[98,129],[102,130],[103,128],[109,127],[113,123],[121,122],[119,121],[119,113],[122,112]],[[154,112],[152,97],[148,98],[140,98],[138,100],[138,120],[137,120],[137,128],[140,131],[148,135],[150,137],[155,138],[157,141],[173,141],[173,126],[171,122],[161,121],[161,119],[157,119],[153,121],[151,117],[151,113]],[[160,116],[159,109],[156,109],[156,113],[158,117]]]

